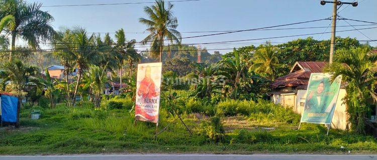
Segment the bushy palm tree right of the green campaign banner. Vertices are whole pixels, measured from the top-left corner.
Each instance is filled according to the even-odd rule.
[[[377,100],[374,86],[377,70],[377,54],[370,52],[370,48],[357,47],[351,49],[338,49],[334,55],[334,62],[324,71],[332,74],[334,79],[342,75],[346,82],[347,113],[350,115],[351,128],[358,133],[365,133],[366,124],[369,124],[367,111],[370,99]],[[374,106],[373,106],[374,107]]]

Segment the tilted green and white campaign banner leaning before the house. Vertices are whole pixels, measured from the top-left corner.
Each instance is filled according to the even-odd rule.
[[[330,81],[329,73],[310,75],[301,122],[330,124],[338,99],[341,75]]]

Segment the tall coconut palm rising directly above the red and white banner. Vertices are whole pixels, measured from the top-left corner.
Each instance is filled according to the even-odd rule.
[[[146,31],[150,32],[142,42],[143,44],[150,42],[152,55],[159,55],[160,62],[164,41],[168,40],[170,43],[178,44],[181,41],[181,34],[176,30],[178,20],[173,16],[172,8],[173,4],[170,2],[166,6],[164,0],[156,0],[154,5],[144,7],[144,12],[148,15],[149,19],[139,19],[139,22],[148,27]]]

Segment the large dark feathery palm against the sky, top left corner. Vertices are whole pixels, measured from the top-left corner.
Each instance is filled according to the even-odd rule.
[[[39,47],[37,39],[47,40],[56,33],[51,25],[54,18],[47,11],[40,10],[41,6],[40,3],[28,3],[25,0],[0,1],[0,18],[8,15],[15,18],[14,25],[6,26],[12,36],[11,50],[15,50],[17,37],[36,48]]]

